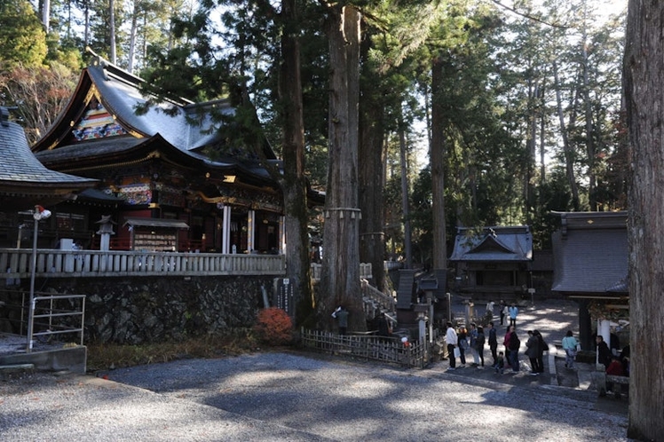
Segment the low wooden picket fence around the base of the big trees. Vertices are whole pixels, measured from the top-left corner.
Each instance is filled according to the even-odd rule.
[[[399,337],[335,335],[304,328],[301,329],[301,338],[307,349],[389,362],[403,367],[423,368],[431,360],[429,345],[426,341],[405,344]]]

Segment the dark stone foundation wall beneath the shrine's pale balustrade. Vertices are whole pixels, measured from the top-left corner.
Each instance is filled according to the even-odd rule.
[[[87,296],[85,343],[155,343],[231,328],[249,328],[254,325],[257,311],[264,306],[261,286],[271,294],[273,278],[180,276],[36,280],[39,292]],[[0,301],[6,304],[20,304],[20,297],[9,299],[19,296],[17,293],[0,296],[4,296]]]

